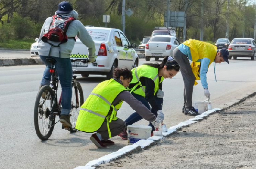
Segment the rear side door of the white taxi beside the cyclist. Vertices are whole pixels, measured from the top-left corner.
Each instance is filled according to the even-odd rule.
[[[116,41],[116,53],[118,57],[118,67],[123,68],[126,62],[126,53],[123,50],[123,43],[118,30],[114,31],[114,40]]]

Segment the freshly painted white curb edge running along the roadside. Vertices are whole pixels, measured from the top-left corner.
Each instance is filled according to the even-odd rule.
[[[173,134],[174,132],[179,130],[180,128],[187,127],[193,123],[196,123],[199,120],[204,119],[204,117],[209,116],[210,114],[214,113],[217,110],[221,110],[221,109],[216,108],[216,109],[208,110],[208,111],[202,113],[201,115],[195,116],[195,118],[189,119],[185,122],[180,122],[178,125],[170,127],[167,132],[162,132],[163,136],[167,137],[168,135]],[[155,144],[155,142],[164,139],[164,137],[152,136],[152,137],[149,137],[147,140],[139,140],[137,143],[134,143],[133,145],[125,146],[116,152],[112,152],[112,153],[105,155],[97,160],[92,160],[92,161],[88,162],[85,166],[79,166],[74,169],[95,169],[95,167],[92,167],[92,166],[98,166],[100,164],[104,164],[104,163],[113,161],[117,158],[120,158],[124,154],[135,150],[135,149],[144,149],[152,144]]]

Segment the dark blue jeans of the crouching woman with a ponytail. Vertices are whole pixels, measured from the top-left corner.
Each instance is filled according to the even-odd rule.
[[[132,93],[132,95],[139,100],[142,104],[144,104],[144,106],[146,106],[148,108],[148,110],[150,110],[150,105],[148,103],[148,101],[146,100],[146,98],[144,98],[141,95],[137,95],[135,93]],[[155,100],[158,104],[158,106],[160,107],[160,109],[162,110],[163,107],[163,98],[158,98],[156,97],[156,95],[154,96]],[[157,117],[157,111],[156,109],[151,109],[151,113],[155,114],[155,116]],[[137,112],[134,112],[133,114],[131,114],[126,120],[126,126],[128,125],[132,125],[133,123],[138,122],[139,120],[143,119],[142,116],[140,116]],[[155,130],[155,127],[152,125],[152,123],[150,122],[148,126],[151,126],[153,130]]]

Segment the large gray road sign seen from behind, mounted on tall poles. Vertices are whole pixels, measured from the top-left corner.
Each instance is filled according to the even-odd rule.
[[[170,27],[183,27],[185,12],[184,11],[171,11],[170,12]],[[164,13],[164,23],[167,22],[167,11]]]

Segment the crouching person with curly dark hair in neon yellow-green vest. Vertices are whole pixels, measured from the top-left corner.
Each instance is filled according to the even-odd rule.
[[[98,148],[114,145],[108,139],[126,128],[125,122],[117,118],[117,110],[123,101],[155,127],[159,127],[158,118],[126,89],[132,79],[132,72],[127,68],[115,69],[114,78],[99,83],[80,107],[76,129],[87,133],[96,132],[90,140]]]

